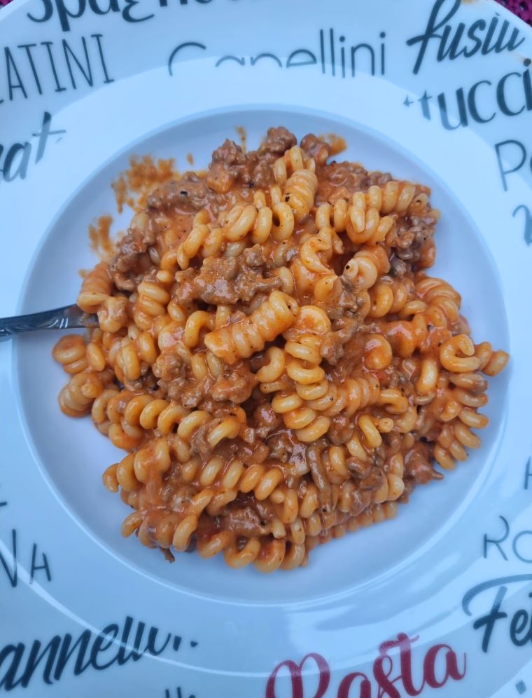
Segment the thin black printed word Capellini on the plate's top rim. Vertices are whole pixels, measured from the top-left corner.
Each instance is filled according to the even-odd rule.
[[[326,74],[330,71],[332,77],[355,78],[357,73],[364,69],[365,72],[374,76],[386,73],[386,33],[379,34],[380,42],[377,44],[361,42],[346,44],[346,36],[337,36],[334,29],[320,29],[316,37],[316,45],[305,48],[296,48],[288,52],[288,57],[279,56],[272,51],[265,51],[254,56],[241,56],[228,53],[219,58],[215,64],[219,68],[226,64],[237,64],[242,67],[255,67],[264,61],[273,62],[279,68],[301,68],[309,65],[321,67],[321,72]],[[168,60],[168,71],[174,74],[174,64],[181,54],[186,52],[187,58],[194,55],[195,51],[201,55],[206,51],[207,46],[200,41],[185,41],[176,46],[170,54]],[[361,68],[362,66],[362,68]]]

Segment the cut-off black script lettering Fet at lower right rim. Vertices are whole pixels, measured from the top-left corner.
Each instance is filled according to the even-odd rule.
[[[500,620],[510,619],[510,614],[507,613],[506,610],[503,610],[503,602],[505,601],[506,592],[510,584],[518,584],[519,582],[532,582],[532,575],[514,575],[514,577],[500,577],[496,580],[482,582],[482,584],[477,584],[476,587],[472,587],[472,589],[464,595],[462,599],[463,611],[466,615],[472,615],[470,606],[473,599],[484,596],[484,592],[486,591],[496,591],[489,611],[478,617],[473,623],[473,628],[475,630],[482,630],[482,652],[489,651],[491,636],[493,635],[495,625]],[[526,603],[530,604],[532,592],[528,592],[527,589],[530,589],[529,583],[526,585],[524,593],[526,593]],[[530,645],[532,643],[532,608],[531,610],[520,608],[513,613],[507,631],[510,641],[515,647]]]

